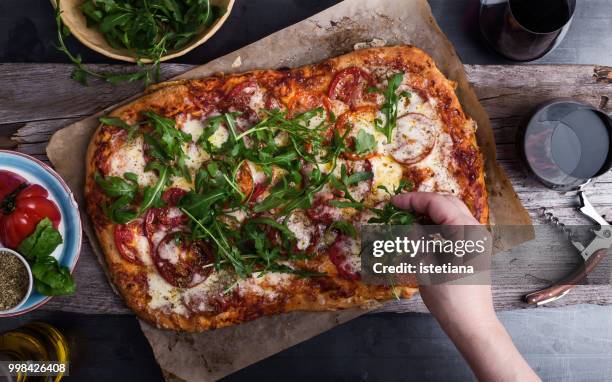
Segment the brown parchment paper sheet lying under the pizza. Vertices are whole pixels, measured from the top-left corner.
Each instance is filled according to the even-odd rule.
[[[477,138],[485,157],[491,221],[500,225],[531,225],[512,185],[495,162],[495,142],[489,118],[470,87],[454,48],[433,19],[426,0],[347,0],[178,78],[296,67],[347,53],[357,43],[374,41],[377,44],[380,40],[387,45],[412,44],[425,50],[440,70],[457,82],[459,100],[465,112],[478,124]],[[47,146],[49,159],[81,205],[84,204],[85,164],[80,158],[85,158],[89,139],[97,125],[97,116],[72,124],[58,131]],[[94,252],[105,267],[89,218],[83,216],[83,220]],[[495,232],[495,226],[493,230],[496,246],[500,249],[509,249],[533,237],[531,229],[514,237],[500,235]],[[201,334],[162,331],[143,322],[141,327],[168,380],[210,381],[364,312],[366,310],[360,309],[295,312]]]

